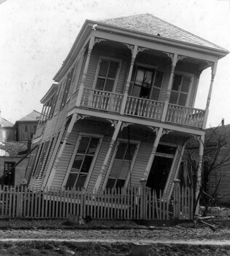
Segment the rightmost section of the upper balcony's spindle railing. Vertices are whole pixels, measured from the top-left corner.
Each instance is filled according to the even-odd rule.
[[[205,110],[168,105],[165,122],[202,128]]]

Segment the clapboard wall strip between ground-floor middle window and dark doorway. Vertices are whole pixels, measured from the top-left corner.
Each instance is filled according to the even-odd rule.
[[[146,169],[146,166],[148,164],[151,151],[152,151],[153,144],[141,142],[136,161],[134,163],[134,167],[131,173],[131,184],[133,185],[139,185],[140,179],[143,178],[144,171]],[[130,181],[129,181],[130,184]]]

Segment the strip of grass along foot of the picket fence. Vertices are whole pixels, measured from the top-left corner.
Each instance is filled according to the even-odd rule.
[[[131,220],[92,220],[86,224],[73,224],[63,219],[0,220],[0,229],[133,229],[138,225]]]

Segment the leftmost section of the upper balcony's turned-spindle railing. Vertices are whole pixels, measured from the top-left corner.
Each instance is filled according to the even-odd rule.
[[[111,112],[120,112],[122,100],[123,94],[120,93],[84,89],[80,106]]]

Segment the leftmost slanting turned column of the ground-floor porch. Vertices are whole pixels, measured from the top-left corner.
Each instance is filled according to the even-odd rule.
[[[56,159],[54,161],[53,167],[52,167],[52,169],[50,171],[50,177],[49,177],[49,180],[47,181],[47,185],[46,185],[48,188],[50,188],[50,186],[51,186],[51,183],[52,183],[53,178],[55,176],[55,173],[57,171],[57,166],[58,166],[59,161],[60,161],[60,159],[62,157],[62,153],[63,153],[64,148],[65,148],[65,144],[66,144],[66,142],[67,142],[67,140],[69,138],[69,135],[70,135],[70,133],[71,133],[71,131],[73,129],[73,125],[74,125],[74,123],[77,120],[77,116],[78,116],[78,114],[74,112],[73,116],[72,116],[72,119],[70,121],[70,124],[68,126],[67,132],[65,134],[65,139],[64,139],[63,144],[61,146],[61,149],[60,149],[60,151],[59,151],[59,153],[58,153],[58,155],[57,155],[57,157],[56,157]]]

